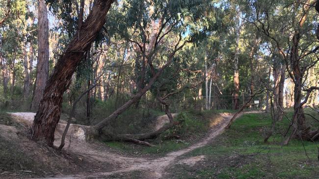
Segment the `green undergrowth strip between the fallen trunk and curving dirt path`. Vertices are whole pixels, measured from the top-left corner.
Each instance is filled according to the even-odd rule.
[[[183,149],[190,144],[198,141],[209,130],[209,123],[211,122],[212,115],[215,113],[187,111],[180,112],[175,121],[180,121],[181,124],[167,130],[158,138],[148,140],[148,142],[156,145],[156,147],[140,146],[128,142],[106,141],[106,145],[126,153],[132,154],[160,154],[164,155],[171,151]],[[155,122],[155,121],[154,121]],[[154,123],[153,123],[154,124]],[[154,130],[151,126],[149,130]],[[172,136],[172,137],[171,137]],[[180,136],[175,138],[173,136]]]

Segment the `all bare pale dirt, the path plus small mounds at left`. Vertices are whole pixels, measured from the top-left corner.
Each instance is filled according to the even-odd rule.
[[[30,125],[34,117],[34,113],[29,112],[16,112],[11,113],[11,115],[13,116],[13,118],[15,118],[15,120],[24,123],[24,125]],[[81,139],[81,137],[80,139],[78,137],[73,137],[73,134],[70,133],[66,138],[66,145],[63,149],[64,152],[78,157],[77,159],[79,159],[80,162],[82,162],[83,164],[94,164],[96,170],[78,171],[76,172],[76,174],[67,176],[63,174],[55,175],[52,179],[108,178],[108,176],[121,175],[123,173],[134,171],[139,171],[143,174],[142,178],[146,179],[163,178],[163,176],[165,176],[165,170],[174,163],[185,163],[194,165],[197,161],[202,160],[205,156],[190,157],[180,161],[178,160],[178,157],[194,149],[203,147],[207,143],[211,142],[214,137],[224,131],[231,118],[232,114],[221,113],[219,116],[214,118],[213,123],[211,124],[212,128],[210,130],[210,134],[208,134],[200,142],[195,143],[187,147],[186,149],[171,152],[166,154],[164,157],[155,159],[149,157],[125,157],[121,154],[109,152],[108,148],[105,145],[99,144],[97,142],[85,142]],[[164,124],[164,122],[162,121],[165,120],[160,120],[160,124],[158,124],[156,128]],[[65,124],[63,123],[64,122],[62,121],[60,126],[61,129],[57,130],[57,133],[55,134],[55,146],[58,146],[60,143],[61,131],[62,129],[64,129],[65,126]],[[11,129],[11,127],[10,129],[2,128],[5,127],[1,125],[0,130],[4,131],[5,134],[1,135],[9,135],[10,133],[8,131],[14,131],[14,128]],[[71,128],[70,130],[72,133],[74,133],[76,130],[78,130],[78,128]],[[105,167],[105,165],[111,166]],[[101,166],[100,170],[97,169],[99,168],[99,166]]]

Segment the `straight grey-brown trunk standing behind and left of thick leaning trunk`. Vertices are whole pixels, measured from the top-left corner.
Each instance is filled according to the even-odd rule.
[[[31,110],[37,111],[49,76],[49,22],[45,0],[38,5],[38,63]]]

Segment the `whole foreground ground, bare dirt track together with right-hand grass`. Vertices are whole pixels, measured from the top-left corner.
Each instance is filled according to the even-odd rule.
[[[21,122],[16,123],[9,116],[1,115],[0,144],[6,150],[2,150],[0,156],[1,159],[2,156],[6,156],[8,160],[11,158],[11,163],[5,163],[7,168],[1,168],[1,162],[6,158],[0,161],[0,178],[245,179],[319,176],[319,162],[315,151],[318,142],[300,143],[293,140],[291,146],[280,147],[276,142],[279,137],[274,135],[271,144],[263,144],[259,141],[262,141],[262,134],[271,123],[267,120],[267,114],[244,113],[225,133],[223,131],[232,114],[214,114],[206,135],[183,145],[182,149],[174,148],[164,152],[158,147],[152,150],[145,147],[147,152],[142,152],[143,147],[132,149],[131,145],[126,144],[119,147],[114,143],[88,143],[77,139],[72,139],[71,143],[67,140],[64,150],[57,152],[30,140]],[[34,115],[16,114],[30,119]],[[162,125],[163,122],[160,123]],[[279,126],[287,125],[286,123],[279,123]],[[56,146],[59,137],[56,135]],[[12,151],[16,152],[12,154]],[[27,158],[36,159],[30,162]],[[285,166],[281,166],[282,164]]]

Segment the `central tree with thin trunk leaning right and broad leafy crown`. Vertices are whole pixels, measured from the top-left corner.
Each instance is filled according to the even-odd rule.
[[[115,21],[112,22],[115,23],[108,23],[107,29],[109,33],[112,32],[111,27],[123,29],[122,32],[118,30],[115,32],[136,46],[136,51],[141,57],[139,59],[141,65],[139,83],[143,84],[143,88],[140,85],[138,92],[129,101],[95,125],[93,130],[98,132],[101,132],[108,123],[136,103],[158,79],[163,78],[162,74],[166,68],[168,69],[175,63],[178,51],[188,43],[200,41],[206,36],[206,33],[203,32],[216,27],[210,19],[202,18],[208,7],[212,7],[212,4],[206,0],[144,2],[127,0],[121,2],[123,4],[120,4],[118,9],[110,14],[109,21],[114,19]],[[167,115],[171,118],[170,113]],[[167,126],[163,129],[167,129]]]

